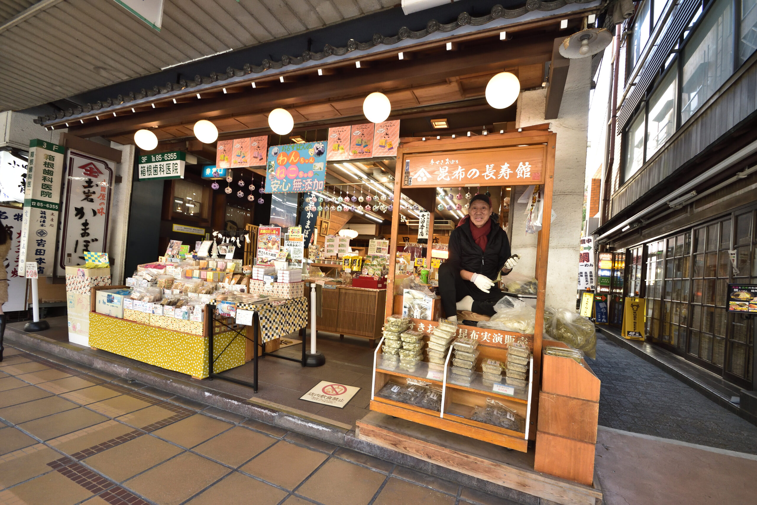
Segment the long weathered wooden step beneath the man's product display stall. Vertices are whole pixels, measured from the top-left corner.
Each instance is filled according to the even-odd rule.
[[[534,471],[534,451],[488,442],[372,412],[357,421],[361,440],[397,450],[456,472],[565,505],[600,505],[602,490]]]

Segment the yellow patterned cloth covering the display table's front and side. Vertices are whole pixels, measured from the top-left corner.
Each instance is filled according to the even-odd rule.
[[[234,332],[213,336],[213,356],[234,338]],[[208,376],[207,338],[117,317],[89,313],[89,345],[132,360],[204,379]],[[237,338],[213,364],[215,373],[245,364],[245,340]]]

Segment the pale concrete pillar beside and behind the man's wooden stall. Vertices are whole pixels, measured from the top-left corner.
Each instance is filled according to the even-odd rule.
[[[584,204],[584,173],[589,114],[591,58],[572,60],[562,95],[559,116],[550,120],[557,134],[550,257],[547,263],[547,306],[575,308],[578,289],[578,251],[581,241],[581,213]],[[547,123],[544,120],[546,89],[522,92],[518,98],[516,126]],[[515,188],[513,188],[515,189]],[[519,188],[520,193],[523,187]],[[514,272],[532,275],[536,261],[536,235],[525,233],[526,204],[511,198],[513,254],[521,262]],[[549,219],[544,216],[544,220]]]

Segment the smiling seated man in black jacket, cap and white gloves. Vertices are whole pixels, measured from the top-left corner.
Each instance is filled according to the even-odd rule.
[[[475,195],[468,215],[450,234],[450,257],[439,267],[439,294],[444,313],[457,320],[457,310],[494,316],[494,305],[503,297],[494,285],[501,272],[510,273],[518,263],[510,255],[507,234],[492,214],[491,200]]]

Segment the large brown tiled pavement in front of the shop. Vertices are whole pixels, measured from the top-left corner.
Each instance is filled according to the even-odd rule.
[[[0,505],[509,503],[10,347],[0,421]]]

